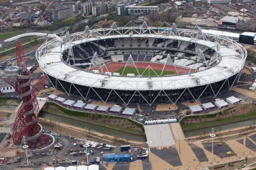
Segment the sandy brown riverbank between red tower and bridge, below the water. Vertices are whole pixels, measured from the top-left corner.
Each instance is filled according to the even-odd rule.
[[[92,139],[97,139],[100,141],[108,141],[112,143],[120,142],[120,143],[130,143],[132,145],[145,145],[145,142],[139,142],[139,141],[133,141],[133,140],[127,140],[127,139],[121,139],[117,138],[115,136],[102,134],[99,132],[93,132],[88,129],[79,128],[76,126],[72,126],[65,123],[60,123],[57,121],[53,121],[46,118],[38,118],[38,122],[43,125],[44,128],[47,130],[52,130],[53,132],[57,132],[63,135],[72,135],[77,138],[86,138],[87,135],[91,137]],[[88,138],[89,139],[89,138]],[[117,141],[118,140],[118,141]]]

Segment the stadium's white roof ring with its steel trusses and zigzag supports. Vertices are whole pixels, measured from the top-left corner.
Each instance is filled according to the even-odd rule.
[[[57,88],[57,84],[59,84],[65,92],[69,95],[72,88],[75,88],[77,92],[84,98],[88,98],[89,91],[94,91],[95,94],[99,97],[100,100],[103,102],[107,102],[109,97],[112,93],[115,93],[120,100],[122,100],[125,104],[129,104],[132,98],[136,95],[141,95],[141,97],[145,100],[146,103],[152,105],[156,98],[163,94],[169,98],[170,102],[176,103],[184,92],[188,92],[191,96],[193,96],[194,100],[198,100],[201,95],[204,93],[205,89],[211,89],[214,96],[217,96],[219,91],[221,91],[222,87],[225,83],[228,82],[228,89],[231,89],[233,84],[239,80],[241,75],[241,69],[244,66],[244,62],[247,56],[246,50],[237,42],[229,39],[228,37],[224,36],[217,36],[213,34],[205,34],[202,30],[196,27],[194,30],[186,30],[186,29],[178,29],[175,24],[170,26],[168,23],[163,23],[160,27],[149,27],[146,22],[142,24],[142,27],[137,26],[132,21],[130,21],[125,27],[116,27],[116,24],[113,23],[111,28],[100,28],[97,24],[89,29],[88,27],[85,28],[85,31],[78,32],[74,34],[70,34],[70,42],[65,41],[67,36],[62,36],[60,38],[64,39],[65,49],[63,46],[60,45],[61,42],[58,39],[54,39],[48,42],[45,42],[36,52],[36,57],[39,62],[40,67],[42,70],[49,76],[55,78],[55,80],[51,80],[52,85]],[[211,58],[210,62],[216,62],[216,66],[222,69],[214,72],[207,72],[207,69],[211,68],[208,67],[205,71],[190,73],[187,75],[177,75],[173,76],[175,79],[171,79],[169,77],[159,77],[153,79],[145,79],[140,77],[141,79],[131,80],[126,79],[125,77],[119,77],[118,80],[115,79],[114,76],[96,76],[96,74],[78,74],[75,69],[72,71],[64,71],[57,69],[54,65],[54,61],[52,63],[48,63],[44,61],[44,57],[47,58],[51,56],[51,53],[59,53],[61,54],[66,49],[74,46],[75,44],[81,44],[85,42],[90,42],[91,40],[102,40],[102,39],[110,39],[110,38],[127,38],[127,37],[161,37],[165,39],[180,39],[183,41],[193,42],[193,43],[205,43],[209,42],[214,44],[213,46],[209,46],[208,48],[214,50],[216,52],[216,57]],[[55,46],[55,48],[53,47]],[[234,56],[236,56],[236,64],[228,67],[218,66],[219,63],[222,61],[222,57],[231,57],[228,53],[220,53],[222,49],[231,49],[234,51]],[[47,50],[45,50],[47,49]],[[148,47],[150,49],[150,47]],[[175,50],[175,49],[173,49]],[[48,53],[45,53],[47,51]],[[188,50],[179,49],[180,52],[188,52]],[[191,52],[194,54],[198,54],[196,52]],[[56,64],[59,60],[56,59]],[[209,65],[205,61],[205,56],[200,54],[195,61],[195,64],[198,62],[203,62],[205,65]],[[51,66],[52,64],[52,66]],[[172,61],[168,59],[166,64],[172,64]],[[64,66],[63,66],[64,67]],[[175,68],[176,69],[176,68]],[[161,76],[161,75],[160,75]],[[173,78],[172,77],[172,78]],[[234,77],[234,80],[231,77]],[[170,79],[170,80],[169,80]],[[62,81],[69,83],[70,87],[67,88],[66,85],[61,83]],[[213,83],[216,82],[224,82],[223,85],[219,89],[214,89]],[[86,95],[82,94],[81,91],[77,88],[77,86],[82,85],[88,87],[88,92]],[[201,95],[195,96],[191,93],[190,89],[194,87],[204,86],[205,88],[201,91]],[[98,94],[97,88],[108,89],[109,95],[106,99],[103,99],[100,94]],[[180,96],[171,99],[170,96],[167,95],[167,91],[169,90],[182,90]],[[118,90],[132,90],[134,93],[131,98],[127,101],[124,100],[123,97],[118,94]],[[158,95],[151,101],[148,101],[141,93],[145,90],[158,90]]]

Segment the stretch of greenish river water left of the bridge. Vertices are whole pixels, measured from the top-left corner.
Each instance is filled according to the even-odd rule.
[[[61,117],[61,116],[57,116],[57,115],[53,115],[53,114],[49,114],[49,113],[45,113],[45,112],[40,112],[40,117],[47,118],[47,119],[50,119],[50,120],[53,120],[56,122],[60,122],[60,123],[69,124],[69,125],[76,126],[79,128],[84,128],[84,129],[88,129],[91,131],[99,132],[102,134],[116,136],[116,137],[122,138],[122,139],[128,138],[129,140],[146,142],[146,137],[142,136],[142,135],[134,135],[134,134],[130,134],[130,133],[114,130],[114,129],[105,128],[105,127],[98,126],[95,124],[82,122],[79,120],[73,120],[73,119],[69,119],[66,117]]]

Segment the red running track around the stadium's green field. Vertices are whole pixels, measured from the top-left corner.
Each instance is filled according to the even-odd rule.
[[[106,65],[106,67],[108,68],[109,72],[116,72],[119,68],[121,67],[125,67],[125,64],[126,63],[116,63],[116,62],[111,62],[110,64]],[[163,66],[164,64],[160,64],[160,63],[138,63],[136,62],[136,67],[137,68],[147,68],[149,65],[151,66],[152,69],[154,70],[162,70],[163,69]],[[131,66],[131,65],[128,65],[126,67],[134,67],[134,66]],[[175,66],[177,71],[179,72],[179,74],[185,74],[185,73],[188,73],[189,72],[189,69],[187,68],[183,68],[183,67],[179,67],[179,66]],[[93,71],[93,70],[99,70],[99,66],[96,66],[96,67],[93,67],[93,68],[90,68],[90,71]],[[101,70],[99,70],[101,71]],[[104,67],[103,68],[103,72],[105,73],[107,70],[106,68]],[[173,71],[173,72],[176,72],[174,66],[171,66],[171,65],[166,65],[165,66],[165,71]],[[190,72],[194,72],[195,70],[191,69]],[[101,73],[101,72],[100,72]],[[177,74],[177,73],[176,73]]]

